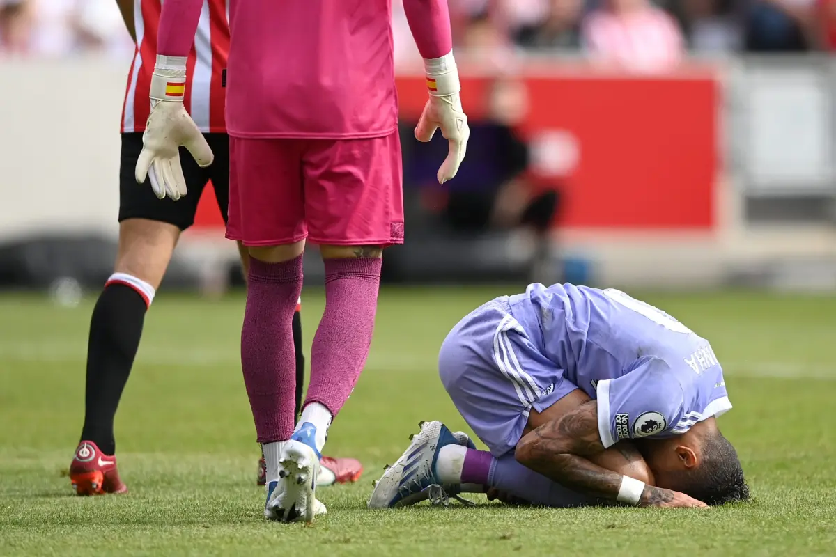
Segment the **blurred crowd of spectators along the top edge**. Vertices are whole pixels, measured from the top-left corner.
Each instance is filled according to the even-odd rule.
[[[836,0],[450,0],[457,48],[587,53],[636,69],[683,53],[830,50]],[[398,55],[412,48],[395,0]],[[0,0],[0,53],[65,56],[104,50],[130,56],[115,2]]]

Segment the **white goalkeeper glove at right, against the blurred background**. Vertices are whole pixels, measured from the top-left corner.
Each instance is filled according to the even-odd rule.
[[[467,127],[467,116],[461,110],[461,84],[453,53],[425,59],[424,68],[430,100],[426,102],[421,119],[415,126],[415,139],[426,143],[436,134],[436,129],[441,128],[441,135],[449,144],[447,158],[437,175],[438,183],[444,184],[456,175],[461,160],[465,158],[470,128]]]

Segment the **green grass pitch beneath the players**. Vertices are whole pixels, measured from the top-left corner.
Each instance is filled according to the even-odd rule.
[[[685,322],[726,369],[751,504],[691,509],[370,512],[371,481],[421,419],[464,428],[437,379],[450,327],[502,293],[385,288],[375,341],[326,453],[360,458],[358,484],[322,489],[312,526],[262,517],[257,445],[239,365],[242,296],[159,296],[116,420],[130,494],[71,496],[91,301],[68,309],[0,296],[2,555],[836,554],[836,297],[747,292],[636,296]],[[511,293],[506,291],[505,293]],[[304,294],[306,345],[322,311]]]

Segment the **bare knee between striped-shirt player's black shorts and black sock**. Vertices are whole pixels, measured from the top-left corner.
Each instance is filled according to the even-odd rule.
[[[176,225],[147,219],[123,220],[119,225],[114,271],[159,288],[179,238]]]

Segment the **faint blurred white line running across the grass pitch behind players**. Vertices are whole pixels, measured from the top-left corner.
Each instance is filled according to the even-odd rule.
[[[87,347],[81,342],[0,342],[0,358],[27,363],[83,364]],[[140,347],[137,366],[239,367],[238,348],[186,348],[169,343]],[[798,362],[723,362],[728,377],[836,381],[836,367],[805,366]],[[385,352],[372,347],[367,369],[390,372],[435,370],[436,354]]]

